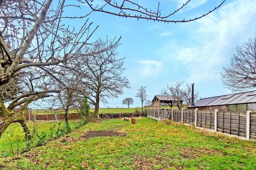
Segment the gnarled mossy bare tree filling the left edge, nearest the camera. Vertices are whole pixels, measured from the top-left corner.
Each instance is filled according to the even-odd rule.
[[[86,20],[74,30],[66,24],[63,11],[79,6],[70,6],[65,1],[51,3],[52,0],[43,3],[11,0],[0,4],[0,86],[10,91],[15,86],[13,82],[18,85],[11,96],[2,93],[5,96],[0,100],[0,137],[13,122],[20,122],[27,129],[24,121],[27,106],[63,89],[55,84],[63,76],[61,67],[88,44],[97,28],[89,32],[92,23]],[[11,100],[8,107],[4,105],[6,100]],[[12,112],[16,107],[20,107],[18,114]]]

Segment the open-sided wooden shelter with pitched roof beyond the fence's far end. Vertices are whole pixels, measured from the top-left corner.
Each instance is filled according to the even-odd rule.
[[[171,96],[164,96],[164,95],[156,95],[151,102],[152,102],[152,107],[154,109],[162,109],[163,104],[167,104],[171,108],[173,104],[178,104],[178,101],[174,100]],[[180,103],[182,104],[182,101],[180,101]]]

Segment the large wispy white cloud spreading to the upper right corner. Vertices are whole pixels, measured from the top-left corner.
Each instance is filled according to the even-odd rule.
[[[219,73],[229,62],[235,46],[256,36],[255,6],[255,0],[237,0],[222,6],[193,23],[187,30],[191,36],[183,40],[183,45],[164,46],[162,56],[165,60],[175,61],[181,70],[186,69],[187,81],[220,81]]]

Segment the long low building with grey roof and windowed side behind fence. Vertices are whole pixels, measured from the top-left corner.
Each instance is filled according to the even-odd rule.
[[[188,108],[233,112],[256,111],[256,91],[203,98],[196,101],[195,106],[188,106]]]

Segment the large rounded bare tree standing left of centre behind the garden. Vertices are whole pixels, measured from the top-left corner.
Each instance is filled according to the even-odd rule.
[[[118,97],[124,88],[130,88],[129,81],[122,77],[124,58],[117,58],[119,41],[99,40],[93,48],[83,48],[71,66],[86,86],[89,103],[98,117],[100,100],[107,103],[107,98]]]

